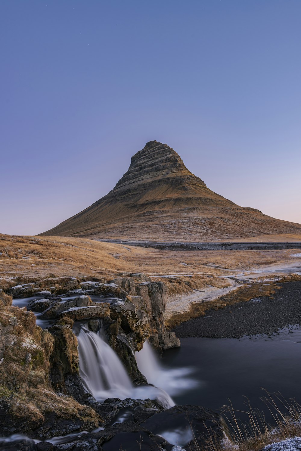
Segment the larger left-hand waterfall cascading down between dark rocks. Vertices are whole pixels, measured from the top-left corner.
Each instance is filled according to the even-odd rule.
[[[86,324],[78,334],[78,354],[82,382],[97,401],[150,398],[157,399],[165,408],[174,405],[162,388],[135,387],[114,350],[103,340],[100,332],[89,331]]]

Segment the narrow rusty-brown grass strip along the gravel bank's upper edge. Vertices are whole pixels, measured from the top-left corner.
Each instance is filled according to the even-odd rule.
[[[210,302],[193,302],[190,308],[181,313],[174,313],[167,321],[166,325],[170,328],[178,326],[181,322],[188,321],[189,319],[198,318],[204,316],[205,312],[211,308],[219,310],[227,305],[237,304],[239,302],[246,302],[253,298],[261,296],[269,296],[275,294],[276,290],[279,290],[281,286],[276,285],[274,282],[255,282],[250,285],[242,285],[235,290],[230,291],[227,295],[223,295]]]

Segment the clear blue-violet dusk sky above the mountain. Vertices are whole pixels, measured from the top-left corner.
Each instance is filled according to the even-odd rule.
[[[300,0],[0,1],[0,233],[91,205],[146,142],[301,223]]]

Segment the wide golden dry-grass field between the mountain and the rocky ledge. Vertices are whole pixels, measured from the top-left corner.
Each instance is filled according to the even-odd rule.
[[[187,293],[208,285],[208,276],[296,263],[296,258],[290,256],[292,252],[161,251],[82,238],[0,235],[0,286],[8,288],[54,276],[111,280],[120,273],[142,272],[154,280],[163,275],[175,276],[162,279],[167,281],[171,294]],[[211,282],[219,283],[214,278]]]

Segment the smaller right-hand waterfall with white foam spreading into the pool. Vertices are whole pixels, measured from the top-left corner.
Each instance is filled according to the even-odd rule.
[[[191,390],[200,384],[199,381],[188,377],[192,373],[192,368],[163,368],[148,341],[143,344],[141,351],[135,353],[135,357],[138,368],[147,382],[163,388],[171,396]]]

